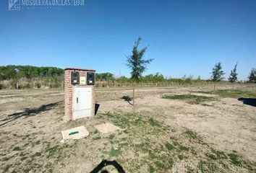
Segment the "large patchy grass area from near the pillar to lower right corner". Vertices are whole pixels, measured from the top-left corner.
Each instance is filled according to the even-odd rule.
[[[100,118],[106,118],[124,131],[121,134],[115,133],[115,136],[108,136],[108,150],[101,150],[101,157],[114,157],[121,163],[126,163],[127,172],[145,172],[145,167],[147,172],[168,172],[174,163],[189,161],[195,156],[202,160],[199,164],[199,167],[202,167],[201,172],[208,172],[204,167],[209,164],[239,164],[237,161],[241,160],[235,154],[228,156],[223,151],[205,145],[200,136],[192,130],[171,133],[173,128],[153,117],[108,113]],[[218,171],[223,170],[213,170]],[[224,172],[229,170],[225,169]]]

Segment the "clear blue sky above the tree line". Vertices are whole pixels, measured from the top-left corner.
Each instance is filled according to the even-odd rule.
[[[85,0],[84,6],[8,10],[0,1],[0,65],[95,68],[129,76],[137,37],[155,60],[145,74],[210,78],[221,62],[239,80],[256,67],[256,1]]]

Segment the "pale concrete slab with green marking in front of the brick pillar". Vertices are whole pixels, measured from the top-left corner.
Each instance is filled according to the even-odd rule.
[[[77,128],[71,128],[68,130],[61,131],[63,140],[67,139],[80,139],[89,136],[88,130],[86,130],[85,126],[80,126]]]

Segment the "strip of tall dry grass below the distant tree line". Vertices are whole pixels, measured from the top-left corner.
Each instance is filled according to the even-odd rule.
[[[228,81],[220,81],[214,83],[213,81],[161,81],[161,82],[116,82],[116,81],[96,81],[95,87],[103,88],[143,88],[143,87],[170,87],[170,88],[209,88],[209,89],[247,89],[255,90],[255,83],[236,82],[231,84]],[[34,78],[34,79],[18,79],[0,81],[0,89],[47,89],[59,88],[64,89],[63,77],[51,78]]]

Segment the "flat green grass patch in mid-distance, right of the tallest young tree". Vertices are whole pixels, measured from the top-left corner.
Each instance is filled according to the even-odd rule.
[[[206,96],[193,95],[193,94],[163,95],[162,98],[184,100],[189,104],[200,104],[202,102],[216,100],[214,97],[206,97]]]

